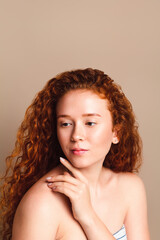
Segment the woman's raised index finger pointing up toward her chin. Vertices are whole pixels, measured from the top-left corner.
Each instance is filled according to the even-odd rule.
[[[81,181],[86,182],[86,178],[82,175],[80,171],[74,168],[70,162],[68,162],[66,159],[62,157],[60,157],[60,161],[73,174],[74,177],[78,178]]]

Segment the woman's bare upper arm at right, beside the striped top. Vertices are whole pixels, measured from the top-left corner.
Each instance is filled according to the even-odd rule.
[[[132,175],[127,182],[128,211],[125,218],[129,240],[150,240],[147,217],[146,193],[142,180]],[[126,190],[127,190],[126,189]]]

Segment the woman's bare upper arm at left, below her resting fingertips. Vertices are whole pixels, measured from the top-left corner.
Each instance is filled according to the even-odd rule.
[[[12,240],[55,239],[59,224],[57,203],[46,195],[46,191],[38,189],[27,192],[15,214]]]

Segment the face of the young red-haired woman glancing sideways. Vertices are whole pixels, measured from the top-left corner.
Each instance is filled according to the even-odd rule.
[[[103,163],[116,137],[107,100],[90,90],[72,90],[60,98],[56,111],[58,140],[73,166]]]

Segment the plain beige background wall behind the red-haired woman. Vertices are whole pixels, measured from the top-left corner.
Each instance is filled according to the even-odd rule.
[[[93,67],[133,104],[144,142],[152,239],[159,239],[159,0],[1,0],[0,167],[37,91],[55,74]],[[137,213],[138,214],[138,213]]]

